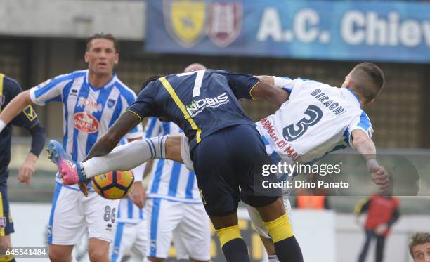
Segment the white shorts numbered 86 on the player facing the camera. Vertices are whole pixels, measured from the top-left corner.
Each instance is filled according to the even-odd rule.
[[[77,244],[86,228],[89,238],[112,241],[119,200],[109,200],[56,184],[48,224],[48,244]]]

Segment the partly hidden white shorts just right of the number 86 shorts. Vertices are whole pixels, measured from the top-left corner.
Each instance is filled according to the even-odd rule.
[[[148,246],[146,220],[137,224],[117,222],[114,241],[110,244],[110,261],[122,261],[125,253],[129,253],[135,261],[143,261]]]

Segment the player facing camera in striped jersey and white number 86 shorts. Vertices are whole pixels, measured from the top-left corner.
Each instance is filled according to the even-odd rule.
[[[136,98],[113,73],[119,60],[117,51],[117,40],[112,34],[94,34],[87,40],[84,56],[88,70],[60,75],[20,93],[1,113],[1,119],[10,122],[28,104],[60,102],[63,104],[63,148],[72,159],[84,159],[96,140]],[[141,125],[125,137],[141,138]],[[84,197],[77,186],[61,185],[57,178],[48,230],[51,261],[70,261],[73,246],[87,227],[91,261],[109,261],[118,203],[119,200],[104,199],[96,192]]]

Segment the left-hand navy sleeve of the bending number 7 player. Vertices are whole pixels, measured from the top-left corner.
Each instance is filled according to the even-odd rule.
[[[150,82],[136,98],[136,101],[126,111],[136,114],[141,120],[145,117],[158,116],[159,111],[155,103],[155,96],[157,93],[157,84],[159,81]]]

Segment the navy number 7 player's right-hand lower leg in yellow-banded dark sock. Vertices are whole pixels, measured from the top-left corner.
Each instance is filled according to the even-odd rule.
[[[276,255],[281,262],[303,261],[299,243],[292,232],[292,225],[285,213],[282,197],[265,207],[256,207],[264,225],[273,239]]]

